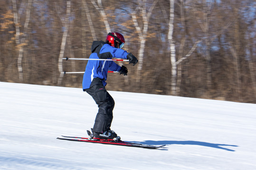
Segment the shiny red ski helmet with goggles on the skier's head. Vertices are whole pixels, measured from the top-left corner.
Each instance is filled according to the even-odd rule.
[[[120,33],[108,33],[107,34],[107,37],[106,37],[106,42],[108,41],[108,43],[115,47],[115,48],[123,48],[123,45],[124,45],[124,37],[122,34]]]

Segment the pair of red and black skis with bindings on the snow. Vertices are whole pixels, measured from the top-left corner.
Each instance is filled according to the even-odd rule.
[[[130,147],[141,147],[147,149],[157,149],[165,146],[163,145],[149,145],[149,144],[136,144],[131,142],[124,142],[120,140],[120,137],[114,139],[100,139],[100,138],[92,138],[92,134],[87,130],[89,137],[76,137],[76,136],[62,136],[57,137],[60,140],[68,140],[68,141],[77,141],[77,142],[89,142],[89,143],[98,143],[98,144],[112,144],[112,145],[120,145],[120,146],[130,146]]]

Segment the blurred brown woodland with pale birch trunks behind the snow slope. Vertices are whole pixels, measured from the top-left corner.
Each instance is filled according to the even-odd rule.
[[[255,0],[1,0],[0,81],[81,87],[93,41],[137,65],[107,90],[256,103]],[[82,89],[81,89],[82,90]]]

